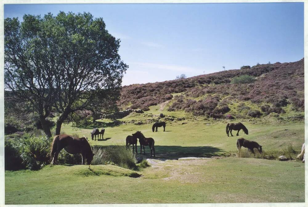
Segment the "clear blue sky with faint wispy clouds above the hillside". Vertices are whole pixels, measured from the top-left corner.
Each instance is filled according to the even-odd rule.
[[[4,5],[4,18],[90,12],[121,39],[123,84],[304,57],[304,3]]]

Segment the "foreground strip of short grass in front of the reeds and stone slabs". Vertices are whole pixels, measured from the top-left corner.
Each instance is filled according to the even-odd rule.
[[[97,169],[96,169],[97,167]],[[304,163],[228,157],[166,161],[142,177],[111,165],[6,171],[6,204],[304,202]],[[114,169],[113,169],[114,168]],[[122,170],[124,170],[122,172]],[[78,172],[78,175],[74,174]],[[125,176],[125,173],[128,173]],[[140,174],[140,173],[138,173]],[[142,186],[142,187],[141,187]],[[76,192],[78,196],[76,196]],[[151,195],[151,196],[149,196]],[[241,195],[241,196],[239,196]],[[144,197],[147,200],[144,201]]]

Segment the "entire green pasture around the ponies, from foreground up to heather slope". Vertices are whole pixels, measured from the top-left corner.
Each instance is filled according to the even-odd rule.
[[[132,113],[114,127],[104,127],[102,141],[92,141],[91,127],[76,129],[64,124],[62,132],[89,138],[91,145],[125,145],[128,135],[141,131],[155,140],[156,158],[211,157],[237,151],[237,138],[257,141],[263,151],[282,151],[289,145],[298,153],[304,142],[304,122],[241,120],[249,135],[227,137],[227,121],[167,121],[166,131],[146,122],[152,114],[185,117],[160,106],[147,113]],[[162,119],[164,120],[164,118]],[[99,121],[99,120],[98,120]],[[107,120],[103,120],[106,121]],[[238,122],[238,121],[236,121]],[[233,132],[236,135],[236,131]],[[145,148],[147,157],[150,150]],[[138,146],[140,152],[140,146]],[[132,177],[134,173],[141,177]],[[131,176],[131,177],[130,177]],[[304,202],[304,163],[256,158],[225,157],[202,160],[169,160],[159,166],[132,171],[113,165],[45,166],[39,171],[6,171],[6,204],[104,204],[104,203],[217,203]]]

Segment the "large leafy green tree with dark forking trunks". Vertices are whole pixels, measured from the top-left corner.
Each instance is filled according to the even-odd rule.
[[[106,105],[97,101],[102,93],[118,96],[128,68],[119,47],[103,19],[90,13],[24,15],[21,23],[6,18],[6,90],[39,114],[47,136],[51,133],[44,123],[54,107],[60,113],[60,134],[63,121],[76,111]]]

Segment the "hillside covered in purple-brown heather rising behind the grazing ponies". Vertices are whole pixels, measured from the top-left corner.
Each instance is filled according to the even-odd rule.
[[[147,110],[163,102],[168,111],[184,110],[194,116],[213,118],[303,112],[304,59],[124,86],[118,105],[123,109]]]

